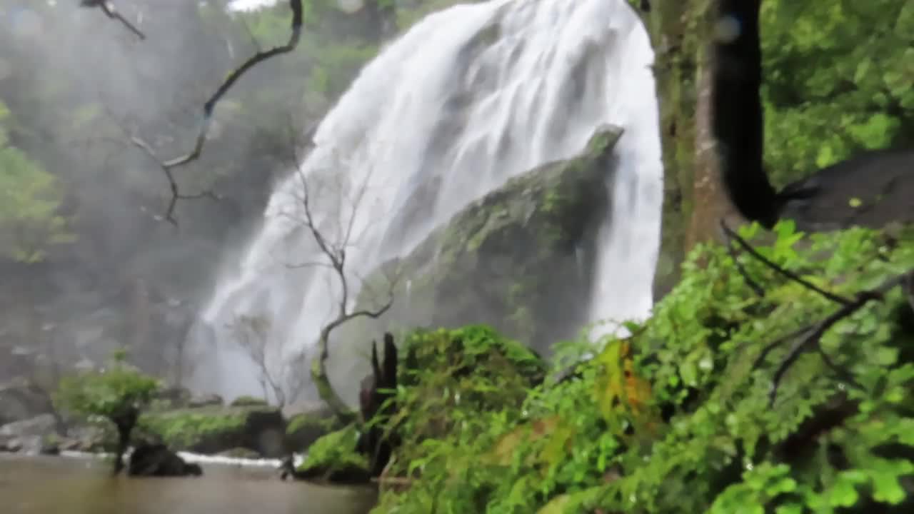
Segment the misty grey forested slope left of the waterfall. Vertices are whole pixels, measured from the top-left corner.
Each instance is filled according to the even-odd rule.
[[[338,94],[309,93],[315,41],[333,33],[261,63],[219,102],[203,154],[175,168],[181,194],[208,196],[178,201],[173,224],[159,162],[190,151],[203,104],[230,70],[288,38],[288,5],[115,2],[141,39],[78,4],[0,5],[0,102],[10,112],[0,123],[11,147],[55,177],[48,217],[69,235],[38,262],[0,256],[0,380],[51,384],[127,348],[134,364],[176,382],[193,365],[183,345],[200,303],[259,226],[305,127]],[[347,82],[364,59],[332,78]],[[0,220],[0,241],[22,230]]]

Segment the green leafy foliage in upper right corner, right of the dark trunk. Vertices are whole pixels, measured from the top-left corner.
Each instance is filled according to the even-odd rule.
[[[778,184],[914,143],[914,4],[762,4],[765,149]]]

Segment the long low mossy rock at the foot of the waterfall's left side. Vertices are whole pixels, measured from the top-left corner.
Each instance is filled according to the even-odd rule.
[[[200,407],[147,412],[139,434],[161,439],[175,451],[218,454],[248,448],[260,455],[285,453],[285,420],[273,407]]]

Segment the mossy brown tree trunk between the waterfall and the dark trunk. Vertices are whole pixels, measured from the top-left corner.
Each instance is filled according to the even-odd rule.
[[[716,237],[728,200],[717,173],[710,130],[710,63],[715,0],[652,2],[640,10],[654,46],[664,161],[664,209],[654,297],[679,279],[679,265],[698,242]],[[635,9],[639,9],[636,5]]]

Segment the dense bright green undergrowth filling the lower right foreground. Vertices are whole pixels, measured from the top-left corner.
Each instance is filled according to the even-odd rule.
[[[914,237],[757,231],[741,234],[762,256],[841,299],[705,245],[649,321],[561,345],[558,362],[594,356],[563,380],[524,380],[539,360],[479,349],[501,340],[480,327],[470,357],[454,331],[417,335],[374,512],[914,511],[912,300],[857,301],[914,269]],[[808,351],[784,366],[792,348]]]

